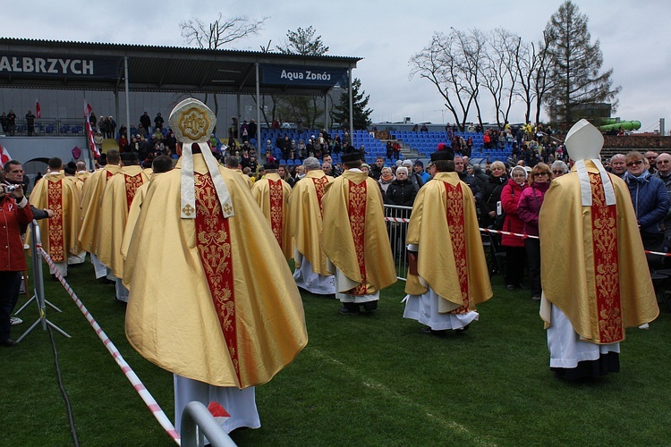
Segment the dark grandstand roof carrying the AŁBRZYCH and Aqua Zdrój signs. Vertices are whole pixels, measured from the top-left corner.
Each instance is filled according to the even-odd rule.
[[[126,59],[127,58],[127,59]],[[181,46],[144,46],[0,38],[0,88],[124,90],[128,61],[130,91],[255,94],[257,67],[259,89],[267,95],[324,95],[334,82],[285,82],[285,73],[326,78],[342,75],[361,57],[305,56],[255,51],[209,50]],[[90,63],[90,66],[89,66]],[[95,75],[93,69],[96,67]],[[83,67],[83,70],[82,70]],[[274,81],[270,69],[280,72]],[[314,69],[319,69],[315,72]],[[304,72],[301,72],[304,70]],[[284,79],[280,80],[279,73]],[[291,73],[289,75],[291,80]],[[296,85],[297,84],[297,85]],[[347,85],[342,85],[345,88]]]

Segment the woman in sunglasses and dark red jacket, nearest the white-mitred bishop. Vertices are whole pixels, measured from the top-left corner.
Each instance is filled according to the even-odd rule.
[[[524,233],[530,236],[539,235],[539,212],[550,186],[551,174],[548,164],[536,164],[531,170],[531,188],[522,191],[520,203],[517,204],[517,215],[524,222]],[[540,299],[540,240],[525,239],[524,248],[531,277],[531,299]]]

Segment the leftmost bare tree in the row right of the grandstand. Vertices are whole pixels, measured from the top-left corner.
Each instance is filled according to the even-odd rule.
[[[480,88],[478,64],[483,46],[484,39],[477,31],[471,31],[469,36],[453,28],[448,35],[435,32],[429,46],[413,55],[409,62],[410,77],[419,75],[436,86],[462,131],[471,105],[476,106],[478,120],[482,122],[477,97]]]

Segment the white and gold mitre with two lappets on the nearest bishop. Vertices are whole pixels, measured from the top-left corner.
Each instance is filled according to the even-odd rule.
[[[174,137],[183,143],[182,147],[182,184],[180,214],[183,219],[196,218],[196,186],[193,175],[192,144],[198,144],[200,152],[208,165],[209,175],[212,177],[217,198],[221,204],[224,217],[234,215],[233,202],[225,181],[219,172],[219,164],[210,151],[208,140],[217,124],[217,117],[209,107],[198,99],[188,98],[174,106],[168,118],[168,124],[174,132]]]

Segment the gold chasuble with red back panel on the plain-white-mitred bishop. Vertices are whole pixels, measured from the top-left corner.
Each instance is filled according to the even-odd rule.
[[[552,181],[540,208],[543,293],[582,341],[622,342],[625,328],[652,321],[659,308],[626,183],[609,174],[616,205],[607,206],[599,171],[585,164],[591,207],[582,206],[573,169]],[[540,315],[548,328],[549,309]]]

